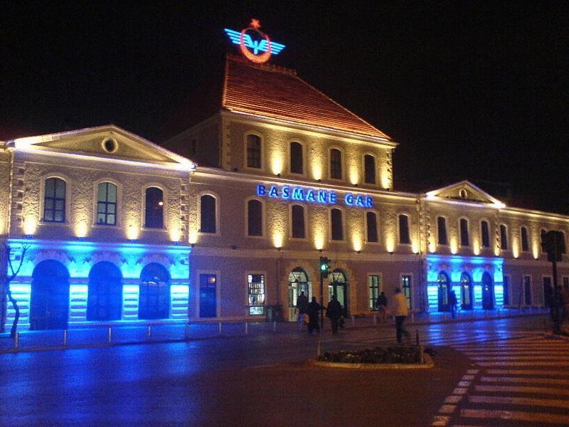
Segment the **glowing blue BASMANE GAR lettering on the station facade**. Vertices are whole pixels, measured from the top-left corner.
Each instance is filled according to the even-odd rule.
[[[306,189],[299,186],[257,184],[257,196],[272,197],[273,199],[307,201],[319,204],[339,203],[336,191],[323,189]],[[373,199],[363,194],[346,193],[344,204],[358,208],[373,208]]]

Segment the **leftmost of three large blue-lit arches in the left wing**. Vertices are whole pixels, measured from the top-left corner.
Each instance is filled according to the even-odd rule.
[[[30,329],[67,329],[69,272],[56,260],[45,260],[32,273]]]

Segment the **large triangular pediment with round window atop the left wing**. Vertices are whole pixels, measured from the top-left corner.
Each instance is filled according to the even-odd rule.
[[[14,147],[172,167],[191,167],[192,164],[190,160],[115,125],[19,138],[14,140]]]

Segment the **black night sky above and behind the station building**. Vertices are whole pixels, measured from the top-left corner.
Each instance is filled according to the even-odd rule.
[[[15,2],[14,2],[15,3]],[[252,17],[277,65],[400,143],[395,189],[470,179],[569,214],[569,7],[563,2],[105,1],[4,6],[0,139],[164,123],[235,52]]]

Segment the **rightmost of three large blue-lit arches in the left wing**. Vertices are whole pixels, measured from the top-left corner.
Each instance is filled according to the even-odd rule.
[[[170,310],[170,275],[159,263],[150,263],[140,273],[138,318],[167,319]]]

